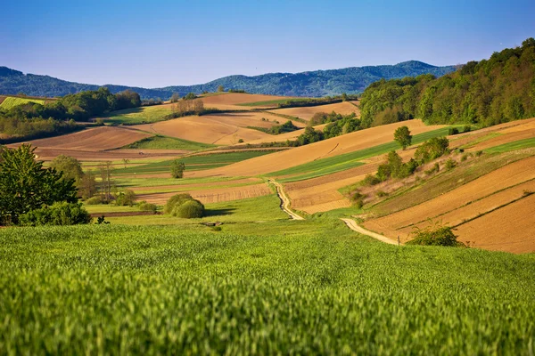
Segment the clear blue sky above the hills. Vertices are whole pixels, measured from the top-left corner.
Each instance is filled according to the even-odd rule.
[[[0,66],[87,84],[480,61],[535,37],[535,1],[6,1]]]

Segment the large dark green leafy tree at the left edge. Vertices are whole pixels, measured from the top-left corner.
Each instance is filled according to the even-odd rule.
[[[72,179],[63,179],[55,168],[43,168],[36,160],[36,149],[22,144],[18,149],[2,150],[0,159],[0,214],[2,223],[18,223],[19,215],[55,202],[76,203],[77,190]]]

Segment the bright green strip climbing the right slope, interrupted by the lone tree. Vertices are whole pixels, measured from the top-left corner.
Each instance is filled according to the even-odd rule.
[[[425,142],[432,137],[440,137],[448,134],[449,127],[443,127],[437,130],[432,130],[424,134],[416,134],[413,137],[413,144],[418,144]],[[393,133],[392,133],[393,137]],[[345,153],[342,155],[334,156],[331,158],[321,158],[316,161],[305,163],[300,166],[292,166],[291,168],[284,169],[282,171],[274,172],[268,174],[268,176],[277,176],[277,175],[289,175],[289,174],[305,174],[304,178],[289,178],[287,182],[293,182],[301,179],[308,179],[307,177],[312,176],[321,176],[325,174],[330,174],[334,172],[340,172],[345,169],[349,169],[355,166],[359,166],[359,160],[374,157],[377,155],[382,155],[388,153],[391,150],[398,150],[398,142],[388,142],[383,143],[378,146],[370,147],[365,150],[357,150],[350,153]],[[286,180],[285,180],[286,181]],[[284,181],[281,181],[284,182]]]

